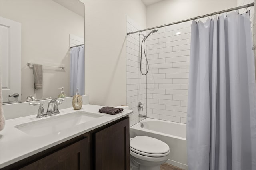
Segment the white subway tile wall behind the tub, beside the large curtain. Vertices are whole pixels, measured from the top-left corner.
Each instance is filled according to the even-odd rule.
[[[186,123],[190,24],[158,28],[147,39],[147,117]]]

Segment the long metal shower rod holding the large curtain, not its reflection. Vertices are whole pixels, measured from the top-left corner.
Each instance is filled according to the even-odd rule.
[[[152,29],[156,29],[156,28],[161,28],[161,27],[165,27],[165,26],[170,26],[170,25],[174,25],[174,24],[179,24],[179,23],[187,22],[187,21],[191,21],[191,20],[196,20],[196,19],[199,19],[199,18],[207,17],[207,16],[213,16],[213,15],[221,14],[221,13],[224,13],[224,12],[239,10],[239,9],[241,9],[241,8],[247,8],[247,7],[250,7],[250,6],[254,6],[254,2],[252,2],[251,4],[243,5],[243,6],[238,6],[238,7],[230,8],[230,9],[228,9],[228,10],[222,10],[222,11],[218,11],[218,12],[214,12],[214,13],[210,13],[210,14],[206,14],[206,15],[202,15],[202,16],[190,18],[190,19],[187,19],[187,20],[182,20],[182,21],[178,21],[178,22],[172,22],[172,23],[170,23],[170,24],[164,24],[164,25],[161,25],[161,26],[146,28],[146,29],[144,29],[144,30],[138,30],[138,31],[134,31],[134,32],[128,32],[127,35],[134,34],[134,33],[137,33],[137,32],[152,30]]]

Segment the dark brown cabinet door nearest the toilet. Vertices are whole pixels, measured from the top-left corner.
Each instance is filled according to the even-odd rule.
[[[129,118],[95,133],[95,169],[130,170]]]

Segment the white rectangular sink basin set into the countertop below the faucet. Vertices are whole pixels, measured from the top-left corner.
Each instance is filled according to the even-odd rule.
[[[39,121],[23,123],[16,125],[15,128],[30,136],[40,137],[47,134],[59,134],[60,130],[72,128],[76,125],[97,119],[102,116],[103,115],[97,113],[77,111],[65,115],[52,116]]]

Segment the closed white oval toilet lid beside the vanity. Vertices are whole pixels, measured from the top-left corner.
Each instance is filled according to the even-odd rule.
[[[134,152],[165,155],[169,152],[169,146],[156,138],[148,136],[136,136],[130,141],[130,149]]]

